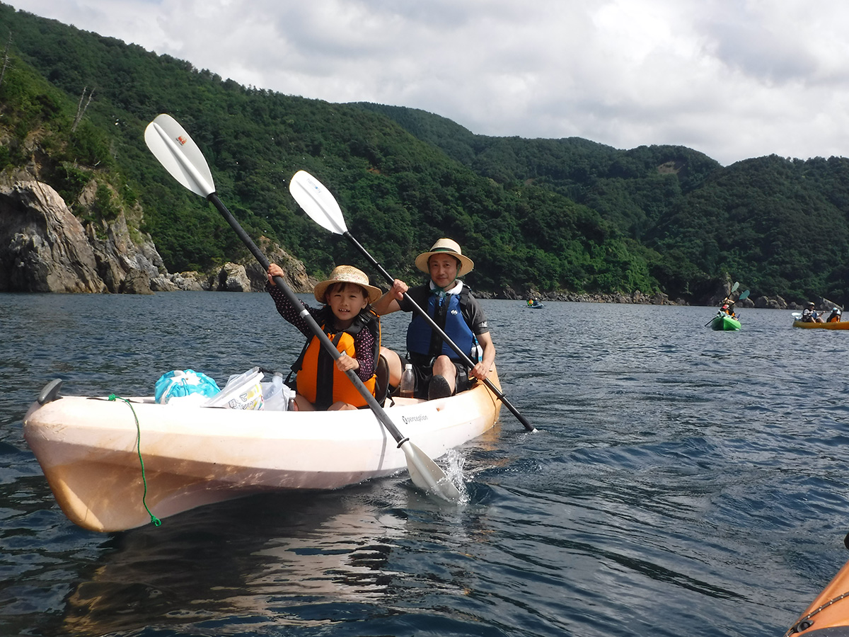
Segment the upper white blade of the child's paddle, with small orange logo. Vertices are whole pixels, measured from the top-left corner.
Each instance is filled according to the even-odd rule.
[[[215,192],[210,167],[198,144],[170,115],[162,113],[144,129],[144,142],[160,164],[183,186],[201,197]]]

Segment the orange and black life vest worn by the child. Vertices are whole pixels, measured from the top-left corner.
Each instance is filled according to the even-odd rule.
[[[380,318],[374,312],[368,311],[371,320],[367,324],[357,321],[347,330],[336,334],[328,332],[322,325],[322,330],[328,335],[330,341],[340,352],[345,352],[351,358],[354,355],[354,336],[359,330],[370,330],[374,335],[374,363],[377,367],[377,358],[380,354]],[[297,392],[305,397],[316,409],[327,409],[337,401],[349,403],[354,407],[365,407],[365,398],[357,391],[357,387],[348,378],[348,375],[336,367],[335,360],[330,356],[318,341],[318,336],[313,336],[306,345],[306,350],[301,358],[301,369],[298,370],[295,381]],[[374,396],[374,384],[376,373],[371,375],[363,384]]]

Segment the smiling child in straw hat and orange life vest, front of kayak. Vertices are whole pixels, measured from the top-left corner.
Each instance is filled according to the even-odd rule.
[[[280,316],[295,325],[307,338],[301,356],[292,365],[295,372],[295,402],[301,411],[357,409],[365,407],[363,395],[346,375],[353,369],[363,384],[374,394],[376,365],[380,353],[380,317],[371,303],[380,299],[383,290],[368,285],[368,276],[353,266],[333,269],[329,279],[312,290],[318,309],[302,303],[295,307],[283,290],[274,285],[275,276],[284,276],[283,268],[272,263],[268,268],[266,290],[274,299]],[[304,307],[315,318],[330,341],[341,352],[333,357],[321,345],[301,316]]]

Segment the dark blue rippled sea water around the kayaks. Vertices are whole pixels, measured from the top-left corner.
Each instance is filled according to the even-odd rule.
[[[46,382],[223,382],[284,368],[301,336],[264,294],[0,296],[0,634],[784,634],[849,557],[849,332],[769,310],[714,332],[708,307],[484,306],[504,391],[541,431],[504,409],[441,460],[468,502],[399,475],[98,534],[65,519],[23,440]],[[403,327],[387,317],[385,341]]]

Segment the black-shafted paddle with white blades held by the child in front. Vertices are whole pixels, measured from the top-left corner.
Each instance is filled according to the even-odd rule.
[[[189,137],[188,132],[173,117],[163,113],[160,116],[156,116],[154,121],[148,124],[148,127],[144,131],[144,141],[148,144],[150,152],[153,153],[160,164],[162,164],[166,171],[171,173],[171,177],[177,179],[179,183],[183,184],[183,186],[193,193],[200,194],[201,197],[212,202],[212,205],[221,212],[222,217],[236,231],[239,239],[245,243],[251,254],[256,257],[262,268],[267,271],[271,265],[268,259],[256,247],[256,244],[245,233],[245,230],[239,225],[235,217],[230,214],[227,207],[222,204],[222,201],[218,199],[209,165],[206,163],[198,145]],[[290,290],[289,286],[286,285],[283,277],[274,277],[274,283],[284,292],[292,305],[301,307],[301,302],[295,296],[295,293]],[[306,321],[312,334],[318,338],[322,347],[329,352],[330,356],[334,360],[340,358],[341,353],[339,350],[336,349],[315,318],[312,318],[312,314],[306,311],[306,308],[301,312],[301,318]],[[360,392],[368,403],[368,407],[374,412],[377,420],[380,420],[380,424],[395,438],[398,448],[401,448],[407,456],[407,469],[413,484],[425,491],[436,493],[436,495],[443,499],[457,501],[460,493],[447,478],[445,472],[424,454],[421,449],[411,443],[408,437],[402,436],[401,431],[398,431],[395,423],[392,422],[389,415],[380,406],[380,403],[375,400],[372,392],[369,392],[368,388],[363,385],[363,381],[360,380],[360,377],[357,376],[357,373],[353,369],[349,369],[346,375],[354,386],[357,387],[357,391]]]

